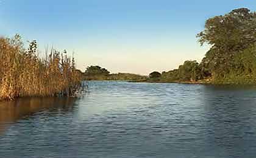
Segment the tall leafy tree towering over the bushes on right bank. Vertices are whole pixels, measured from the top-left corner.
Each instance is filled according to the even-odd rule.
[[[207,19],[197,38],[212,46],[200,64],[202,74],[223,78],[235,67],[236,54],[255,43],[256,14],[241,8]]]

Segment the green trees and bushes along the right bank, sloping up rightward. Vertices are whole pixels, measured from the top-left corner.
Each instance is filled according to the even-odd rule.
[[[207,19],[197,34],[210,50],[201,63],[185,61],[178,69],[149,75],[148,81],[216,84],[256,83],[256,13],[241,8]],[[153,73],[153,72],[152,72]]]

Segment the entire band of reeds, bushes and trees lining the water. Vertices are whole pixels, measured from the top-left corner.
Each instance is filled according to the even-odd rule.
[[[0,38],[0,98],[71,95],[85,80],[126,80],[180,83],[255,84],[256,13],[241,8],[207,19],[197,34],[201,45],[210,49],[200,63],[185,61],[178,69],[152,72],[149,77],[110,72],[100,66],[76,70],[74,58],[52,49],[40,58],[37,42],[29,49],[19,35]]]

